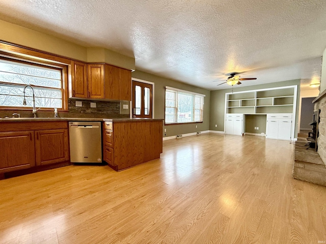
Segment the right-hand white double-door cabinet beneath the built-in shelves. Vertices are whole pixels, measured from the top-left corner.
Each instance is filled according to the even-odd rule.
[[[292,114],[267,114],[266,138],[291,140]]]

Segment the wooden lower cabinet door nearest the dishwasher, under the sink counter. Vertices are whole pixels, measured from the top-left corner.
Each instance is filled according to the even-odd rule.
[[[35,131],[36,165],[69,160],[68,129]]]

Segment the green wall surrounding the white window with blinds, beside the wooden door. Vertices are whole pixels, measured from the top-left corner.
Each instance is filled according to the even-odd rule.
[[[192,85],[187,85],[175,80],[162,78],[156,75],[148,74],[142,71],[135,71],[131,73],[132,78],[142,79],[154,82],[154,116],[155,118],[165,117],[165,86],[171,86],[189,92],[199,93],[205,95],[204,104],[204,118],[203,123],[189,124],[189,125],[164,125],[163,136],[175,136],[179,134],[194,133],[197,131],[207,131],[209,128],[209,114],[210,114],[210,91]],[[197,128],[196,128],[197,126]]]

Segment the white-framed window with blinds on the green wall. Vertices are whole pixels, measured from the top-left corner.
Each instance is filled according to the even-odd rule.
[[[166,86],[165,123],[194,123],[203,121],[205,95]]]

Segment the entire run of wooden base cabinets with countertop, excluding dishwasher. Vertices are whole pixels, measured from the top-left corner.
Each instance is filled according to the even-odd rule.
[[[0,178],[70,165],[68,121],[102,122],[102,159],[116,171],[162,153],[162,119],[2,118]]]

